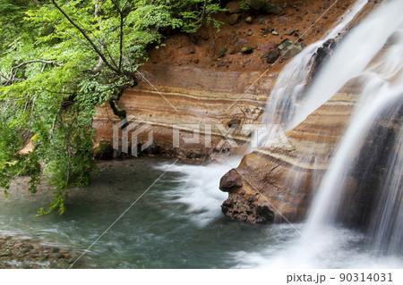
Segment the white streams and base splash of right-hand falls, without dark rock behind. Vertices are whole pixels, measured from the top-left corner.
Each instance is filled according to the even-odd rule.
[[[389,158],[389,172],[381,189],[383,193],[376,207],[369,232],[347,230],[336,226],[337,211],[343,211],[335,203],[343,196],[343,185],[352,158],[363,145],[368,129],[374,120],[403,100],[403,1],[388,1],[360,23],[345,38],[330,62],[322,69],[309,92],[307,107],[290,125],[312,113],[341,88],[347,80],[360,77],[363,90],[346,134],[339,144],[329,171],[322,179],[318,195],[314,198],[308,222],[299,227],[303,237],[267,247],[259,252],[233,253],[237,267],[271,268],[402,268],[401,243],[403,239],[402,189],[403,176],[401,145],[403,131],[397,134],[398,155]],[[390,46],[375,59],[390,36]],[[368,67],[368,63],[373,63]],[[321,96],[323,95],[323,96]],[[314,98],[314,99],[313,99]],[[316,102],[316,100],[318,100]],[[315,102],[313,102],[315,101]],[[363,165],[360,165],[363,166]],[[370,172],[371,170],[368,170]],[[388,192],[388,195],[384,193]],[[378,215],[378,216],[377,216]],[[292,228],[292,226],[289,226]],[[302,230],[301,230],[302,228]],[[389,236],[385,236],[387,233]],[[369,246],[367,239],[373,236]],[[378,255],[384,248],[387,255]],[[398,256],[393,256],[396,253]]]

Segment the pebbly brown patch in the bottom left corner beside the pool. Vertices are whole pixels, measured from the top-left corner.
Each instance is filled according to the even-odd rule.
[[[0,235],[0,269],[63,269],[79,256],[64,247],[44,245],[39,239]],[[76,265],[80,264],[82,260]]]

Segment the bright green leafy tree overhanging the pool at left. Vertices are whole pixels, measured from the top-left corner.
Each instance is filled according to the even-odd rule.
[[[123,119],[117,101],[161,31],[197,31],[219,10],[212,0],[0,0],[0,187],[30,175],[35,193],[47,177],[54,199],[39,214],[63,214],[67,189],[96,169],[96,106]]]

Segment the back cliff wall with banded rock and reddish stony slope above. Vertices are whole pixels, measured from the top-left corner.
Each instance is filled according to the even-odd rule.
[[[149,155],[201,160],[244,154],[251,131],[242,126],[259,122],[281,68],[304,45],[322,38],[349,6],[340,0],[327,12],[326,21],[308,29],[329,8],[321,1],[250,4],[258,2],[261,6],[249,11],[240,9],[239,1],[230,2],[232,8],[217,15],[223,22],[219,32],[211,26],[193,35],[173,34],[164,46],[151,49],[150,62],[138,74],[140,84],[125,90],[119,102],[127,112],[129,122],[123,125],[130,125],[130,133],[114,129],[118,119],[108,106],[100,107],[94,118],[98,141],[111,142],[117,129],[115,144],[123,152],[137,147]],[[277,12],[262,11],[263,6],[277,7]],[[240,21],[230,25],[232,13]],[[289,42],[297,48],[291,54],[280,48]]]

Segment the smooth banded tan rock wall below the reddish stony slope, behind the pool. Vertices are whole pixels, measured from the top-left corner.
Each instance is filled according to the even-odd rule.
[[[133,132],[142,126],[138,142],[149,141],[152,132],[152,144],[144,150],[150,154],[196,159],[243,154],[251,130],[243,130],[241,125],[258,122],[266,90],[275,79],[275,75],[264,75],[253,85],[261,75],[258,71],[146,66],[139,85],[126,90],[119,101],[133,126],[129,144]],[[112,141],[118,122],[107,106],[99,107],[94,118],[97,138]],[[120,131],[118,139],[122,145]]]

